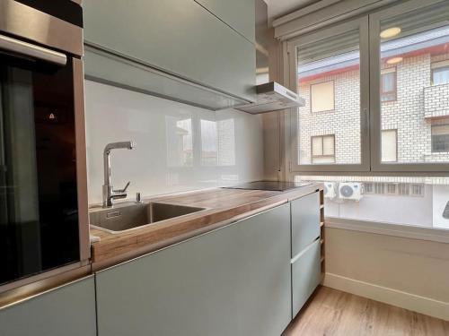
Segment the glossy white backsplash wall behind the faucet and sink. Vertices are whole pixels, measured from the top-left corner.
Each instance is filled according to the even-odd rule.
[[[111,154],[112,185],[131,181],[131,198],[263,176],[260,116],[213,112],[91,81],[85,82],[85,116],[90,203],[101,202],[108,142],[136,142],[132,151]]]

